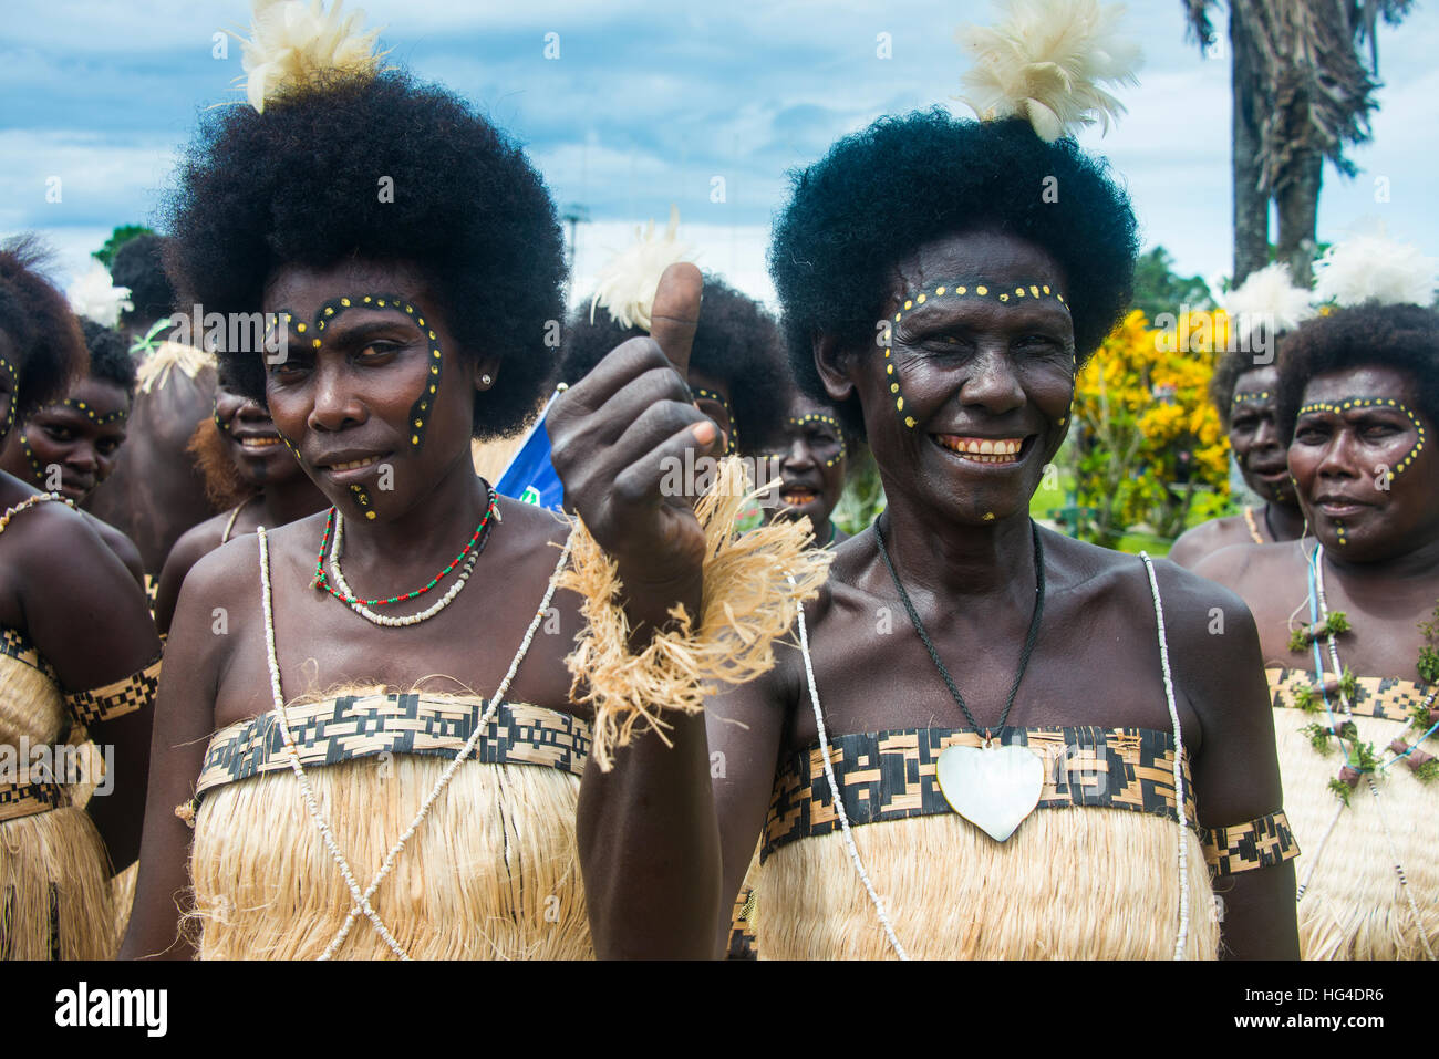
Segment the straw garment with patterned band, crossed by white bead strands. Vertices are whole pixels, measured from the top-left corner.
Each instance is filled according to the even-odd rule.
[[[416,706],[416,698],[355,695],[327,699],[318,712],[289,708],[305,773],[361,891],[472,731],[456,724],[458,711],[469,718],[484,708],[478,699],[429,695]],[[389,712],[381,717],[386,699]],[[433,708],[436,702],[445,709]],[[322,728],[334,718],[348,724],[357,715],[367,718],[351,728],[357,734],[315,737],[317,724]],[[560,761],[553,744],[509,745],[530,724],[515,721],[517,715],[531,718],[534,730],[548,724],[551,734],[560,725],[583,724],[553,711],[507,705],[492,722],[501,725],[499,737],[486,732],[455,773],[371,898],[412,958],[594,955],[574,840],[583,753],[576,760],[566,751]],[[555,721],[543,722],[538,715]],[[246,724],[260,725],[250,750],[263,742],[268,761],[258,768],[222,763],[240,778],[222,777],[209,788],[201,778],[191,855],[201,958],[315,958],[351,906],[278,732],[273,725],[265,728],[266,721],[272,717]],[[217,747],[243,727],[232,725],[212,740],[206,777],[222,768]],[[436,735],[442,728],[443,735]],[[358,750],[347,750],[357,742]],[[318,761],[308,760],[312,753]],[[239,757],[250,761],[253,754]],[[376,960],[393,953],[360,917],[335,955]]]

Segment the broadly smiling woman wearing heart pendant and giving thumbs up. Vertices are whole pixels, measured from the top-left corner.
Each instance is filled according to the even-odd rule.
[[[1082,26],[1094,4],[1048,7]],[[1075,26],[1032,39],[1075,62]],[[1045,114],[1084,109],[1069,82]],[[836,550],[800,650],[711,698],[707,727],[679,718],[672,747],[646,734],[586,776],[602,955],[722,951],[761,836],[761,958],[1297,953],[1243,604],[1029,518],[1075,371],[1128,302],[1135,220],[1102,161],[997,109],[881,118],[794,177],[770,250],[790,355],[868,439],[888,509]],[[627,354],[557,401],[557,453],[652,400],[658,365]],[[656,496],[665,456],[712,445],[705,423],[658,447],[626,433],[616,483],[557,459],[632,619],[708,609],[696,528],[633,498]],[[720,885],[682,878],[694,865]]]

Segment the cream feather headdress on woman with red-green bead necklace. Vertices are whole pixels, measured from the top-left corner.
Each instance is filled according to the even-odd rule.
[[[361,32],[364,12],[341,14],[344,0],[328,12],[322,0],[255,0],[252,39],[240,40],[243,88],[260,114],[265,104],[285,92],[338,73],[373,78],[380,72],[376,53],[380,30]]]

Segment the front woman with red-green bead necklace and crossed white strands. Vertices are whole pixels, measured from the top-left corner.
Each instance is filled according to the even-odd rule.
[[[317,45],[317,10],[258,10],[252,106],[186,155],[168,268],[181,304],[263,314],[223,376],[330,506],[184,578],[124,951],[584,957],[577,619],[547,588],[566,532],[471,465],[554,376],[554,206],[468,104],[381,71],[354,19]]]

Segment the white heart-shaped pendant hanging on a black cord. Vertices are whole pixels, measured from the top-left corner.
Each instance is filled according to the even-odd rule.
[[[947,747],[937,777],[955,813],[1003,842],[1039,804],[1045,763],[1026,747]]]

